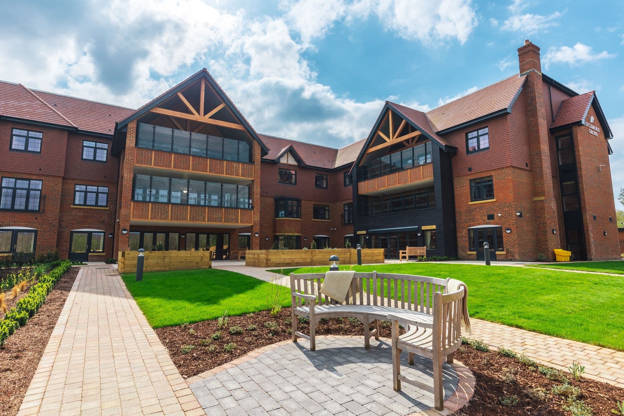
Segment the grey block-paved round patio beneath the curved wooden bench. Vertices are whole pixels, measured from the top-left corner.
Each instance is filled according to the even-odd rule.
[[[316,351],[308,342],[280,342],[248,360],[190,387],[208,415],[409,415],[433,406],[433,395],[403,383],[392,390],[392,356],[386,341],[363,346],[362,337],[318,337]],[[414,356],[401,373],[432,385],[431,360]],[[444,363],[444,398],[459,383],[452,365]]]

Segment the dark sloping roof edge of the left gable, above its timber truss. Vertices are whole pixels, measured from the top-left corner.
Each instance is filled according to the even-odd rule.
[[[219,99],[221,99],[222,102],[224,102],[225,105],[227,105],[228,109],[230,109],[234,117],[238,119],[238,121],[241,123],[241,125],[243,125],[243,127],[245,127],[245,129],[251,135],[251,137],[260,144],[260,147],[262,148],[262,153],[263,154],[268,153],[268,148],[266,148],[265,143],[263,143],[262,140],[260,140],[260,137],[258,137],[258,133],[256,133],[256,130],[254,130],[253,127],[251,127],[247,119],[245,119],[245,117],[241,114],[241,112],[238,110],[236,105],[234,105],[232,100],[230,100],[230,97],[228,97],[227,94],[225,94],[225,91],[223,91],[223,89],[219,86],[219,84],[217,84],[217,81],[215,81],[212,75],[210,75],[208,70],[205,68],[198,70],[197,72],[195,72],[195,74],[191,75],[190,77],[183,80],[179,84],[170,88],[166,92],[163,92],[163,94],[158,95],[158,97],[151,100],[147,104],[142,105],[142,107],[140,107],[138,110],[132,112],[132,114],[130,114],[124,120],[120,121],[116,129],[123,130],[125,126],[132,120],[138,119],[139,117],[147,113],[150,109],[157,107],[158,105],[162,104],[166,100],[173,97],[173,95],[177,94],[178,92],[188,87],[188,85],[191,85],[193,84],[193,82],[200,80],[202,78],[205,78],[207,80],[210,87],[212,87],[215,93],[217,93]]]

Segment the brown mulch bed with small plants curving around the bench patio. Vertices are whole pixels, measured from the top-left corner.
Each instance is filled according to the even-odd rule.
[[[216,319],[188,326],[158,328],[155,331],[167,347],[180,374],[187,378],[245,356],[256,348],[291,339],[290,316],[290,308],[285,308],[276,318],[271,317],[268,311],[228,317],[228,326],[221,331],[217,327]],[[275,322],[277,327],[266,327],[266,322]],[[301,332],[308,333],[307,322],[299,322],[298,325]],[[229,330],[235,326],[240,326],[243,333],[230,334]],[[211,339],[216,332],[221,333],[222,339]],[[390,337],[389,323],[380,322],[379,332],[381,337]],[[332,318],[319,322],[316,334],[363,336],[363,325],[356,319]],[[234,342],[236,348],[230,352],[223,351],[223,347],[230,342]],[[194,347],[190,352],[184,353],[182,347],[185,346]],[[567,404],[567,399],[550,394],[553,385],[561,385],[562,382],[548,379],[537,370],[520,364],[517,359],[499,356],[496,352],[477,351],[467,345],[456,352],[456,359],[469,367],[477,380],[475,394],[469,404],[459,410],[459,415],[572,414],[562,409],[562,405]],[[504,380],[506,372],[513,374],[513,380]],[[570,374],[566,375],[572,378]],[[595,415],[613,415],[612,409],[616,408],[617,400],[624,401],[624,389],[610,384],[585,377],[580,381],[570,380],[570,384],[581,389],[578,399],[592,407]],[[530,390],[539,388],[548,392],[543,401],[532,399],[527,394]],[[517,404],[505,406],[500,403],[500,398],[512,396],[517,397]]]

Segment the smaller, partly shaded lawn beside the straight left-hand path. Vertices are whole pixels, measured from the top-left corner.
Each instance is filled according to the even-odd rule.
[[[279,290],[282,306],[290,306],[290,291],[240,273],[217,269],[124,274],[128,288],[152,327],[199,322],[228,315],[270,309],[270,293]]]

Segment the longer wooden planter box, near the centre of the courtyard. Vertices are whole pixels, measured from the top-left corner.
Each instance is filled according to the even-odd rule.
[[[247,250],[246,266],[279,268],[297,266],[329,266],[329,257],[338,256],[340,264],[358,264],[358,250],[349,248],[320,250]],[[383,248],[362,250],[362,263],[384,263]]]

